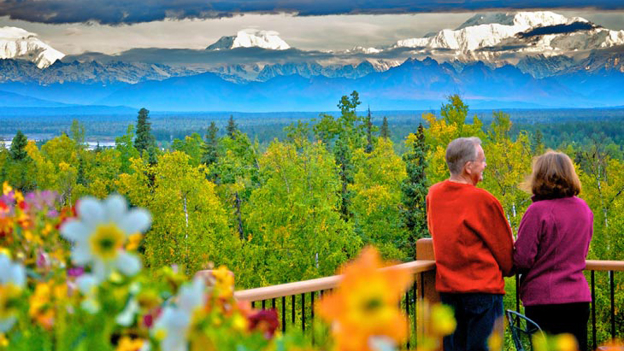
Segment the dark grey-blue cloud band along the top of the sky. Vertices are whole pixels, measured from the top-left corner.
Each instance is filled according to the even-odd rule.
[[[510,9],[624,9],[621,0],[0,0],[0,16],[30,22],[132,24],[243,13],[395,14]]]

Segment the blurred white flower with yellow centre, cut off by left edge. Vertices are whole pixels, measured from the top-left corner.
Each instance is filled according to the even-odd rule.
[[[0,333],[8,332],[16,321],[15,303],[26,285],[26,269],[0,254]]]

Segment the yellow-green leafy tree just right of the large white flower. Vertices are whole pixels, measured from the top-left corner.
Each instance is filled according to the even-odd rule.
[[[204,166],[192,166],[189,158],[174,151],[155,165],[134,159],[132,174],[116,182],[120,194],[154,215],[144,239],[146,264],[154,269],[178,264],[188,274],[206,269],[208,262],[236,267],[240,249],[215,184],[203,176]],[[155,174],[153,181],[149,174]]]

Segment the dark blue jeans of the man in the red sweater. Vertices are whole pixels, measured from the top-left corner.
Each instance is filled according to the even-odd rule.
[[[455,311],[457,328],[444,337],[444,351],[487,351],[494,322],[503,315],[503,295],[440,293],[442,304]]]

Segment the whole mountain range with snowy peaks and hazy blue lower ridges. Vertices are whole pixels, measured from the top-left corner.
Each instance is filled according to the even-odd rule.
[[[0,106],[24,109],[326,111],[353,90],[375,109],[436,108],[454,93],[475,108],[624,105],[624,31],[547,11],[476,15],[456,29],[335,52],[243,29],[203,50],[64,56],[4,27],[0,57]]]

